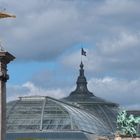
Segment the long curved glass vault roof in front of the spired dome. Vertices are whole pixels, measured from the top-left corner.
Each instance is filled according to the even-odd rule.
[[[7,104],[7,132],[50,130],[111,134],[109,128],[93,114],[50,97],[21,97]]]

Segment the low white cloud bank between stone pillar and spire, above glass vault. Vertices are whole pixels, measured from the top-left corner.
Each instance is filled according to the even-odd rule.
[[[26,82],[22,85],[9,85],[7,88],[7,101],[16,100],[21,96],[50,96],[56,99],[62,98],[67,95],[67,88],[53,88],[45,89],[39,86],[35,86],[32,82]]]

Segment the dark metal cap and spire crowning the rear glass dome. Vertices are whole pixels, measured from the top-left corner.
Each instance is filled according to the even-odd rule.
[[[71,101],[71,102],[92,102],[92,103],[100,103],[100,104],[110,104],[114,106],[118,106],[115,103],[105,101],[102,98],[95,96],[92,92],[90,92],[87,88],[87,80],[84,75],[84,65],[81,62],[79,76],[77,78],[77,86],[74,91],[70,93],[68,97],[63,98],[63,100]]]

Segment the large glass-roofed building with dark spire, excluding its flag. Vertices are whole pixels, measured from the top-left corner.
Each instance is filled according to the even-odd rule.
[[[87,87],[81,62],[76,89],[68,97],[26,96],[7,103],[7,140],[113,139],[119,105]],[[113,94],[113,93],[112,93]],[[140,115],[140,111],[130,111]],[[137,126],[140,134],[140,126]]]

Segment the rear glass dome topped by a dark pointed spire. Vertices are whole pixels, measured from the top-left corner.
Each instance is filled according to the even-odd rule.
[[[83,67],[84,65],[81,62],[76,89],[68,97],[61,100],[78,104],[103,121],[110,128],[110,131],[115,132],[118,104],[97,97],[88,90]]]

